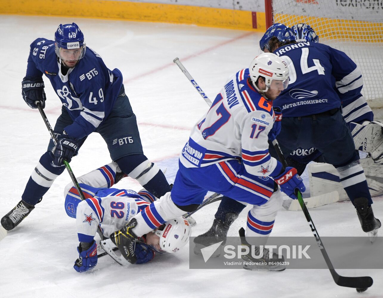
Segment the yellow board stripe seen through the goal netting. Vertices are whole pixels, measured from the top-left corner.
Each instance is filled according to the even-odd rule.
[[[297,16],[280,13],[275,14],[274,23],[283,23],[290,27],[298,23],[306,23],[311,26],[315,24],[313,29],[319,38],[383,43],[383,23],[319,18],[314,16]]]

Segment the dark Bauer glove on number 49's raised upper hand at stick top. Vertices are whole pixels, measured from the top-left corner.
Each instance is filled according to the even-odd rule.
[[[36,102],[41,103],[41,107],[45,108],[45,92],[43,78],[27,76],[21,82],[21,95],[28,106],[37,109]]]

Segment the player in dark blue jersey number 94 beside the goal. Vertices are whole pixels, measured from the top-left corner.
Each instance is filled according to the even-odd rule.
[[[360,94],[363,86],[360,70],[344,52],[325,44],[308,41],[285,44],[278,39],[270,39],[269,44],[290,69],[290,84],[275,101],[283,111],[282,129],[277,137],[282,151],[288,156],[298,147],[318,149],[323,160],[337,169],[363,231],[376,235],[381,224],[372,211],[366,177],[342,116],[339,96],[342,93],[345,98],[353,98]]]

